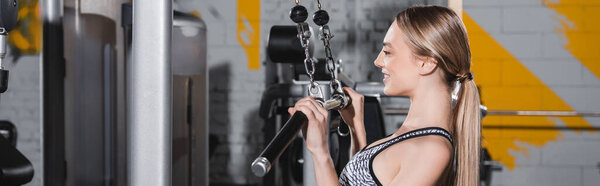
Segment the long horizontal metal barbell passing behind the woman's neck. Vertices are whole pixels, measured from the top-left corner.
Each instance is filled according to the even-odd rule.
[[[387,108],[386,115],[406,115],[408,109]],[[600,112],[543,111],[543,110],[488,110],[494,116],[561,116],[561,117],[600,117]]]

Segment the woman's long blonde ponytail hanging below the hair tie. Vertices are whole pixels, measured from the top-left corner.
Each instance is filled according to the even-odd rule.
[[[479,92],[475,82],[465,79],[454,108],[454,147],[456,161],[455,186],[479,185],[479,158],[481,148],[481,112]]]

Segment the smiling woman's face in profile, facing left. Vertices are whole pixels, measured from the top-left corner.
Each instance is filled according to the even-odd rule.
[[[384,93],[389,96],[412,95],[419,78],[418,59],[404,41],[403,34],[394,21],[385,34],[383,48],[374,62],[375,66],[381,68]]]

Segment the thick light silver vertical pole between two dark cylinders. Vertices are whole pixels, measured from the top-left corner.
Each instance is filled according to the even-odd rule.
[[[129,185],[171,185],[171,0],[133,2],[128,68]]]

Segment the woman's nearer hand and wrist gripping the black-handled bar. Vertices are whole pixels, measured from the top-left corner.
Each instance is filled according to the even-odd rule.
[[[308,125],[302,129],[306,140],[306,148],[314,155],[329,156],[327,146],[327,110],[312,97],[305,97],[290,107],[288,112],[294,115],[300,111],[308,118]]]

